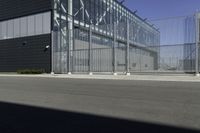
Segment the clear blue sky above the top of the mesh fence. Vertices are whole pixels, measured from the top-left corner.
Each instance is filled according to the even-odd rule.
[[[185,16],[200,10],[200,0],[125,0],[124,4],[148,19]]]

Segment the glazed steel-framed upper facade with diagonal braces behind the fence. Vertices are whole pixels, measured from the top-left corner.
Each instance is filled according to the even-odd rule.
[[[75,32],[85,34],[91,51],[95,38],[109,40],[108,48],[113,50],[113,72],[116,73],[116,48],[126,48],[126,73],[129,74],[129,47],[138,47],[158,53],[159,31],[146,19],[140,18],[116,0],[54,0],[52,72],[68,73],[73,71],[73,50],[75,50]],[[102,44],[106,45],[106,44]],[[92,54],[88,54],[88,72],[92,72]],[[58,61],[59,60],[59,61]]]

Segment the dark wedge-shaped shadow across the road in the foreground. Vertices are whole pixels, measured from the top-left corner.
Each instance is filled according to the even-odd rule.
[[[197,133],[199,131],[0,102],[0,133]]]

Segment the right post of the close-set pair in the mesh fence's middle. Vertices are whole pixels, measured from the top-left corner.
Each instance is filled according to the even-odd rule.
[[[127,24],[126,24],[126,35],[127,35],[127,38],[126,38],[126,41],[127,41],[127,43],[126,43],[126,75],[127,76],[130,76],[131,74],[130,74],[130,67],[129,67],[129,58],[130,58],[130,53],[129,53],[129,49],[130,49],[130,43],[129,43],[129,40],[130,40],[130,38],[129,38],[129,36],[130,36],[130,34],[129,34],[129,20],[127,19]]]

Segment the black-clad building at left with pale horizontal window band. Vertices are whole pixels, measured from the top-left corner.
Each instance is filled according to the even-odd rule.
[[[0,0],[0,71],[50,72],[50,0]]]

